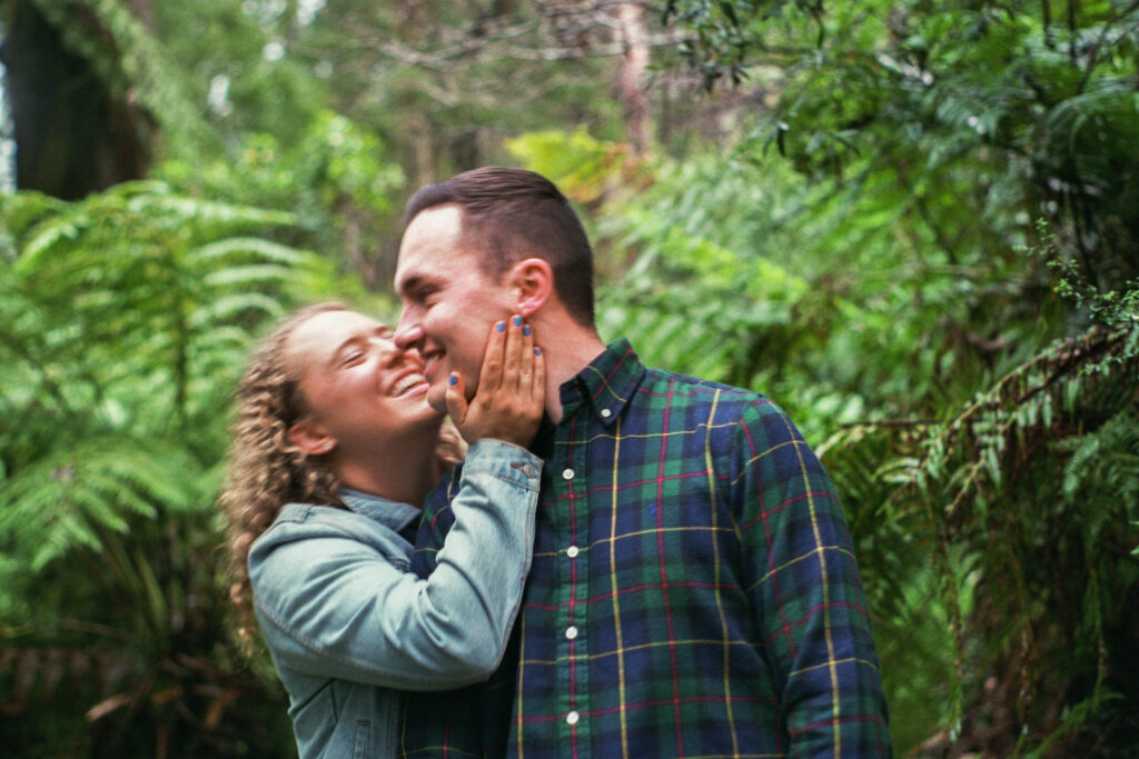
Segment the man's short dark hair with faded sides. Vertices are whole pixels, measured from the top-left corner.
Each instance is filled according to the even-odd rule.
[[[550,263],[554,288],[575,321],[593,325],[593,250],[570,200],[534,172],[486,166],[419,188],[403,211],[404,226],[420,212],[454,204],[461,234],[478,251],[478,267],[498,281],[535,256]]]

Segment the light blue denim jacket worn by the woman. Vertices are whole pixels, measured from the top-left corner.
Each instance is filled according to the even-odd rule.
[[[399,535],[419,509],[364,493],[342,494],[347,511],[288,504],[254,542],[254,610],[302,759],[394,756],[395,688],[452,688],[497,669],[530,569],[541,465],[508,443],[474,443],[426,580],[409,574]]]

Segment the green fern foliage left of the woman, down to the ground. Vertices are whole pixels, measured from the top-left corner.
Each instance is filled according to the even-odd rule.
[[[213,501],[254,337],[337,280],[265,237],[294,221],[159,182],[2,198],[0,683],[47,713],[8,745],[290,750],[265,662],[228,642]]]

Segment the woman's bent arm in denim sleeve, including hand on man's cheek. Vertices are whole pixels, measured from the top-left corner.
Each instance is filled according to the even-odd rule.
[[[469,405],[452,386],[448,402],[465,435],[533,436],[544,377],[526,332],[492,331]],[[289,506],[249,556],[278,667],[404,690],[489,676],[530,567],[541,463],[500,439],[470,445],[451,504],[456,526],[427,579],[409,574],[407,544],[367,517]]]

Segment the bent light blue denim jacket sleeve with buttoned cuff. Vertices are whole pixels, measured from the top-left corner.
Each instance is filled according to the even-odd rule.
[[[453,529],[426,579],[347,528],[284,541],[251,560],[255,609],[278,666],[401,690],[485,679],[502,658],[530,568],[541,465],[507,443],[473,444],[451,503]]]

